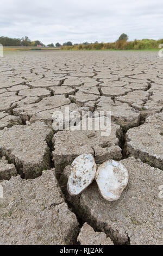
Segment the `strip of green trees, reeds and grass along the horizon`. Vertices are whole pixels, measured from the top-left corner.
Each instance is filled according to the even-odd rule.
[[[18,38],[8,38],[0,36],[0,44],[4,46],[4,50],[158,50],[160,44],[163,44],[163,39],[153,40],[153,39],[142,39],[128,41],[128,35],[122,33],[118,40],[115,42],[98,42],[89,43],[83,42],[83,44],[72,44],[71,41],[64,42],[61,45],[59,42],[57,44],[48,44],[45,46],[41,41],[35,40],[31,41],[28,36],[24,36],[21,39]],[[10,48],[11,47],[11,48]]]

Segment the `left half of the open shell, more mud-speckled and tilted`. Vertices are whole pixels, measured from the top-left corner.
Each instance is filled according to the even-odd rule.
[[[91,154],[78,156],[71,164],[71,174],[67,182],[67,191],[77,196],[95,179],[96,163]]]

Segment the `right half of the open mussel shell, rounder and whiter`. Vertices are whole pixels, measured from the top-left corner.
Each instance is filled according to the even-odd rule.
[[[127,186],[129,175],[122,163],[109,160],[98,167],[95,179],[102,197],[115,201]]]

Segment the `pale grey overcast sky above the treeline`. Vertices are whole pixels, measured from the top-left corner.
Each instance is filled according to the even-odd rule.
[[[0,36],[112,42],[163,38],[162,0],[0,0]]]

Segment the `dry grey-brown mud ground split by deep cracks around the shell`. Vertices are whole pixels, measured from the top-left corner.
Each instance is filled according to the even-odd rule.
[[[162,244],[162,60],[109,51],[0,59],[1,245]],[[54,132],[52,114],[66,106],[111,111],[110,136]],[[79,196],[67,193],[70,164],[83,153],[124,164],[129,182],[120,199],[104,200],[95,182]]]

